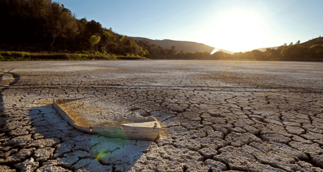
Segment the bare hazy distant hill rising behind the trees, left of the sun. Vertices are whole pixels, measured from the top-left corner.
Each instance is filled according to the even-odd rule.
[[[171,49],[172,46],[175,46],[176,50],[180,52],[183,50],[185,53],[190,52],[190,53],[195,53],[195,52],[208,52],[211,53],[214,47],[202,44],[202,43],[197,43],[197,42],[190,42],[190,41],[175,41],[175,40],[170,40],[170,39],[163,39],[163,40],[158,40],[158,39],[148,39],[148,38],[142,38],[142,37],[128,37],[132,38],[134,41],[139,41],[139,40],[146,40],[149,41],[151,44],[155,44],[157,46],[161,46],[162,48],[166,49]],[[228,54],[233,54],[234,52],[228,51],[225,49],[219,49],[219,51],[223,51]]]

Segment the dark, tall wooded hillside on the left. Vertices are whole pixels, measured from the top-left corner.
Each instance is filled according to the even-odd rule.
[[[77,19],[63,4],[51,0],[1,0],[0,14],[2,50],[148,55],[131,38],[95,20]]]

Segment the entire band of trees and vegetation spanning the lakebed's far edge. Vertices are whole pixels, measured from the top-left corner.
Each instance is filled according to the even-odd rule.
[[[147,40],[133,40],[102,27],[94,20],[77,19],[64,5],[51,0],[1,0],[0,61],[85,59],[214,59],[323,61],[323,39],[286,44],[265,52],[227,54],[177,51]],[[167,40],[171,44],[171,40]],[[192,43],[192,42],[189,42]],[[317,45],[316,45],[317,44]],[[205,47],[208,48],[209,47]],[[208,50],[207,49],[207,50]],[[185,49],[186,50],[186,49]],[[146,57],[146,58],[145,58]]]

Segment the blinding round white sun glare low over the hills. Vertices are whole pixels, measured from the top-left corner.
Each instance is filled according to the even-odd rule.
[[[241,9],[217,15],[207,31],[216,41],[215,47],[234,52],[248,50],[251,45],[259,47],[259,43],[268,38],[266,23],[262,21],[262,18],[255,13]]]

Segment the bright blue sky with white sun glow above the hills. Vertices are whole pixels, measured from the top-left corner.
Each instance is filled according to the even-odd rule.
[[[53,0],[131,37],[193,41],[234,52],[323,36],[323,0]]]

